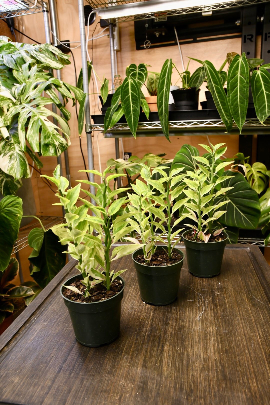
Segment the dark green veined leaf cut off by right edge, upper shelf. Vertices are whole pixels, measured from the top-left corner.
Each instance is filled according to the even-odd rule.
[[[268,70],[260,68],[252,73],[251,90],[256,115],[263,123],[270,115],[270,73]]]

